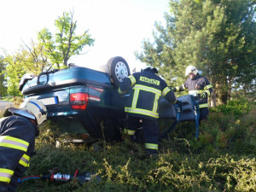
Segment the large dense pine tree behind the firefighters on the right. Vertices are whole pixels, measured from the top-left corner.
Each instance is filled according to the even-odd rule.
[[[182,84],[185,67],[195,65],[212,82],[214,103],[216,98],[226,103],[236,87],[251,89],[247,85],[256,78],[250,65],[256,61],[255,2],[171,0],[165,18],[166,28],[155,24],[154,43],[144,41],[138,59],[160,67],[172,85]]]

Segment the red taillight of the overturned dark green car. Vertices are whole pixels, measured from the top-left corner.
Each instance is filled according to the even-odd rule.
[[[70,94],[70,104],[73,109],[85,109],[89,100],[87,93]]]

